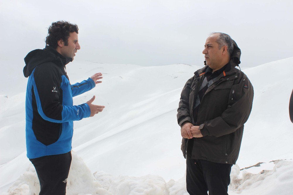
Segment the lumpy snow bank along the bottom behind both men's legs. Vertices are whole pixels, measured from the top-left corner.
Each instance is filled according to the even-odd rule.
[[[228,193],[233,194],[293,194],[293,161],[276,160],[272,170],[258,174],[241,172],[238,165],[232,166],[231,183]],[[142,177],[114,176],[103,171],[93,175],[84,161],[72,152],[72,163],[67,180],[69,195],[188,195],[186,174],[178,181],[165,182],[163,177],[146,175]],[[40,192],[40,183],[33,165],[3,195],[29,194]]]

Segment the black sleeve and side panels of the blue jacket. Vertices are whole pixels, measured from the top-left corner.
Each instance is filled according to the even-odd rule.
[[[34,79],[40,97],[42,111],[51,119],[62,120],[63,93],[60,85],[63,74],[61,68],[51,62],[40,64],[34,71]],[[52,92],[53,89],[57,92]],[[59,139],[62,132],[62,124],[43,119],[38,112],[33,88],[32,95],[32,129],[37,140],[48,146]]]

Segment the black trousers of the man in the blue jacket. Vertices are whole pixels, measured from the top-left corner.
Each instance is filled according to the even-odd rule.
[[[35,166],[40,181],[40,195],[66,194],[71,159],[71,151],[65,154],[30,159],[30,162]]]

